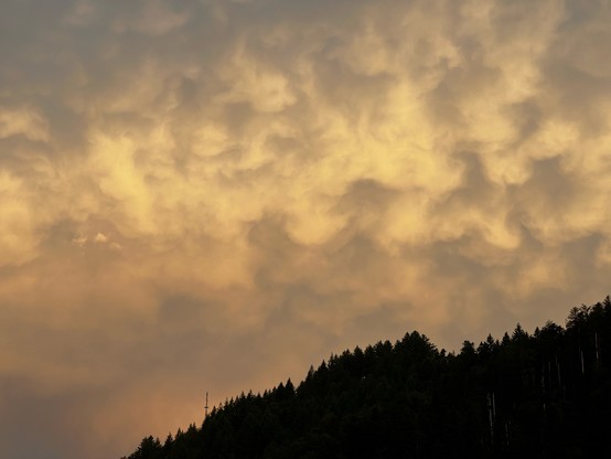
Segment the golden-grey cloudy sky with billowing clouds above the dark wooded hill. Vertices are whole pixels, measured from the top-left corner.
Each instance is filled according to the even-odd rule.
[[[2,0],[0,449],[611,292],[608,0]]]

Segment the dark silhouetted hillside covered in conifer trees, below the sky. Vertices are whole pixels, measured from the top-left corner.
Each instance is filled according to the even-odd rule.
[[[438,351],[418,332],[242,394],[129,459],[611,457],[611,301]],[[124,458],[125,459],[125,458]]]

